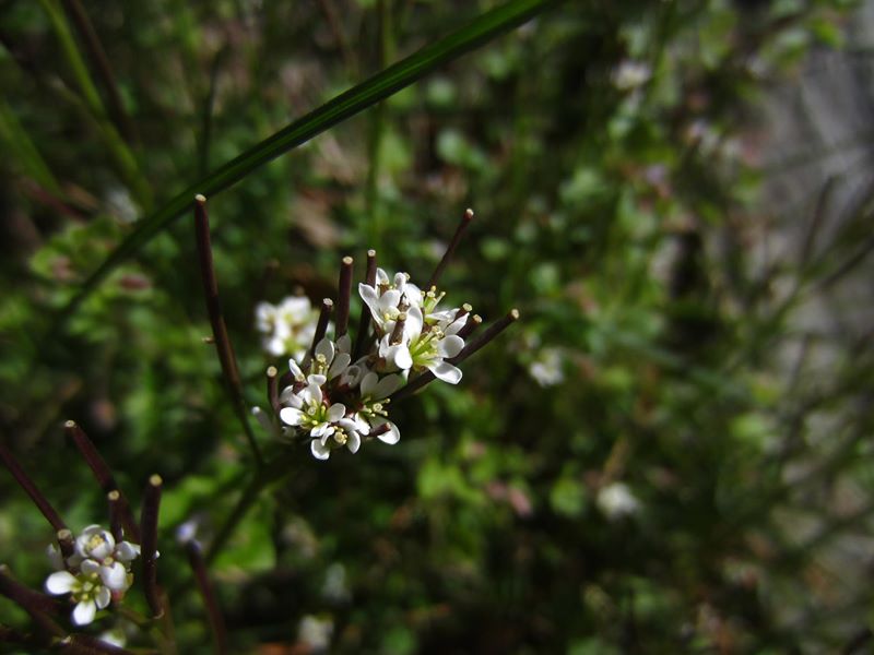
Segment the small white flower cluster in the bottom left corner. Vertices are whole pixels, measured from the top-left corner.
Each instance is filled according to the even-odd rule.
[[[49,594],[70,594],[75,607],[73,623],[85,626],[94,620],[97,609],[110,600],[120,600],[131,585],[131,562],[140,547],[116,540],[99,525],[88,525],[75,539],[72,555],[64,558],[57,546],[49,546],[49,558],[59,571],[46,580]]]

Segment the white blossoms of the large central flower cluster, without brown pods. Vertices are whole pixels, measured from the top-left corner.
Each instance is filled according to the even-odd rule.
[[[422,291],[408,274],[389,276],[382,269],[358,293],[375,331],[369,352],[353,361],[349,335],[322,337],[310,354],[288,361],[292,383],[279,398],[280,419],[310,440],[319,460],[343,445],[355,453],[367,439],[398,443],[389,396],[411,379],[430,371],[450,384],[461,380],[449,360],[464,347],[459,333],[469,309],[438,311],[444,294]]]

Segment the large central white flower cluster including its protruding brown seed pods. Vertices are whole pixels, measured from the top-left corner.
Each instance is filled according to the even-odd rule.
[[[471,340],[482,323],[471,313],[473,308],[466,303],[440,308],[446,294],[437,289],[437,281],[472,218],[471,210],[464,212],[424,289],[406,273],[389,274],[377,267],[376,252],[368,251],[365,282],[358,285],[364,305],[354,345],[347,333],[353,260],[343,258],[334,337],[327,336],[334,303],[326,298],[309,348],[292,357],[288,373],[281,379],[276,369],[268,369],[269,401],[282,430],[260,408],[253,413],[269,431],[308,442],[318,460],[343,446],[356,453],[362,443],[374,439],[398,443],[400,430],[389,419],[393,401],[433,380],[461,381],[457,365],[519,317],[512,310]]]

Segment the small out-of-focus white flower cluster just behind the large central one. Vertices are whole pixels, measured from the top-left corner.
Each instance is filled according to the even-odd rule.
[[[318,314],[306,296],[288,296],[279,305],[259,302],[255,318],[264,350],[275,357],[304,357],[312,343]]]

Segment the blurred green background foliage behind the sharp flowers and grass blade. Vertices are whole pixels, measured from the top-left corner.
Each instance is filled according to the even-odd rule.
[[[181,652],[209,631],[174,529],[209,541],[250,473],[191,221],[44,335],[181,189],[498,4],[0,1],[2,438],[75,529],[106,508],[64,420],[134,503],[164,477]],[[522,313],[392,407],[398,445],[300,450],[212,569],[232,652],[871,652],[872,55],[872,2],[576,0],[212,196],[252,405],[286,366],[259,301],[368,248],[424,283],[468,206],[447,302]],[[40,588],[52,531],[0,499]]]

